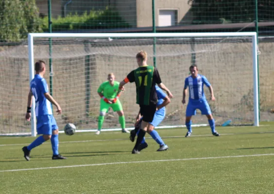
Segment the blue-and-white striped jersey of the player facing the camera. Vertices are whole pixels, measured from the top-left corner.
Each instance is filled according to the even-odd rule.
[[[189,101],[206,99],[204,84],[206,84],[207,87],[210,86],[209,81],[207,81],[206,77],[203,75],[198,74],[197,78],[192,78],[191,76],[186,78],[184,89],[189,88]]]

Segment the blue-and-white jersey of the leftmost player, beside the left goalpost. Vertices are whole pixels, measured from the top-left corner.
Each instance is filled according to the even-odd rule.
[[[44,96],[49,92],[49,87],[47,81],[39,74],[35,74],[31,81],[31,91],[35,98],[36,116],[52,114],[51,102]]]

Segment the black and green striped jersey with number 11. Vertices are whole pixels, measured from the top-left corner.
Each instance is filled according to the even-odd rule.
[[[158,70],[154,66],[140,66],[127,75],[136,84],[136,103],[139,105],[157,104],[155,84],[161,83]]]

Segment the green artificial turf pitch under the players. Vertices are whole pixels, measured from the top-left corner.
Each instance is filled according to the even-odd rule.
[[[21,148],[34,137],[0,137],[0,194],[273,194],[274,124],[217,130],[193,128],[185,138],[186,129],[159,129],[170,150],[156,152],[146,134],[140,154],[117,131],[60,134],[67,160],[51,160],[49,141],[29,162]]]

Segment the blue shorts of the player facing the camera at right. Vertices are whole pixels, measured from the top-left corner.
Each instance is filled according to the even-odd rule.
[[[189,101],[187,106],[186,116],[195,115],[196,109],[199,109],[202,114],[211,114],[211,110],[206,99]]]

